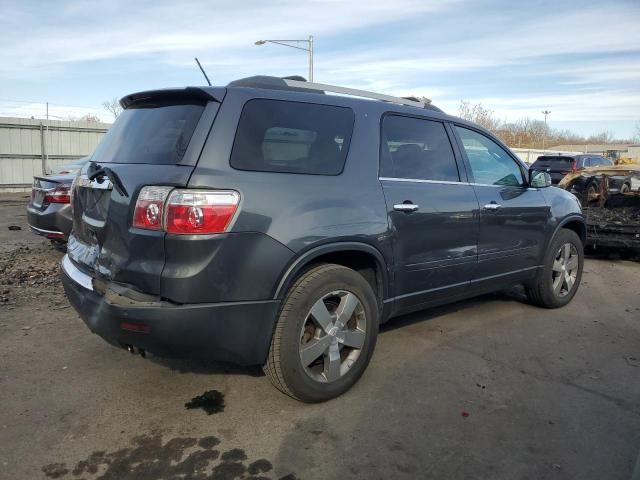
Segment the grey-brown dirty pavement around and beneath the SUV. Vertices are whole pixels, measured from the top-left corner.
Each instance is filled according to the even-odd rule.
[[[2,479],[632,476],[640,263],[589,259],[560,310],[512,292],[395,319],[353,390],[304,405],[260,369],[143,359],[92,335],[25,202],[0,197]]]

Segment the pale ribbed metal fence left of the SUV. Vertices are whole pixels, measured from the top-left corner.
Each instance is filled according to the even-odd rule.
[[[34,175],[90,154],[110,126],[0,117],[0,192],[29,189]]]

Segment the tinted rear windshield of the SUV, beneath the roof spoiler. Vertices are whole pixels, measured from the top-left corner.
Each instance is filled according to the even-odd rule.
[[[177,164],[204,105],[132,106],[124,110],[91,157],[94,162]]]

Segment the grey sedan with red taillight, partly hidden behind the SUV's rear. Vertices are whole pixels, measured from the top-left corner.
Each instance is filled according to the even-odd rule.
[[[67,241],[71,232],[71,183],[74,175],[33,177],[31,199],[27,205],[27,222],[36,235],[55,245]]]

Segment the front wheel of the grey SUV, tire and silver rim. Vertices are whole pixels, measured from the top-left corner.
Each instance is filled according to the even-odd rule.
[[[531,303],[544,308],[568,304],[580,286],[584,247],[573,230],[562,229],[551,241],[533,285],[527,288]]]

